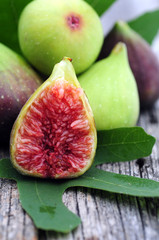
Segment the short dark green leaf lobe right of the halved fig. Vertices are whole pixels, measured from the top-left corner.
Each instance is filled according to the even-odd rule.
[[[155,138],[141,127],[100,131],[95,165],[146,157],[151,154],[154,143]]]

